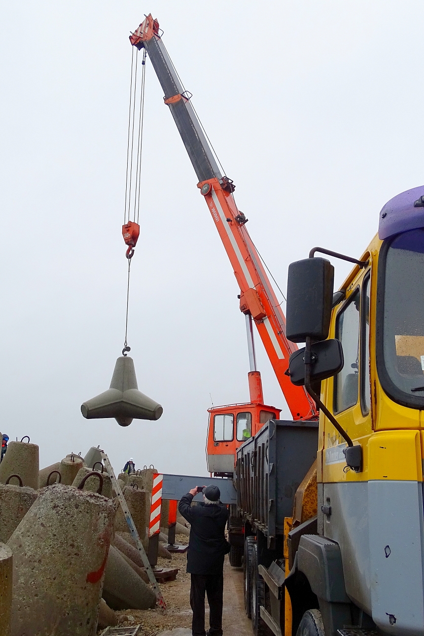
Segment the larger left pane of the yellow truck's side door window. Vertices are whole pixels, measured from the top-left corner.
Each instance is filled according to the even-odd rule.
[[[345,366],[334,378],[334,413],[344,411],[358,401],[359,307],[360,291],[357,289],[337,317],[336,338],[343,347]]]

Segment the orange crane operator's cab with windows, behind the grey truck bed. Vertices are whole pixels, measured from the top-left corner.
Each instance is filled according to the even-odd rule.
[[[250,402],[208,409],[207,466],[215,477],[232,477],[237,448],[268,420],[280,418],[280,408],[263,403],[259,371],[250,371],[249,390]]]

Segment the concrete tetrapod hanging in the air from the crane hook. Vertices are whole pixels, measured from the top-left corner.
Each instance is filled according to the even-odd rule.
[[[120,426],[137,420],[158,420],[163,408],[140,392],[135,377],[134,361],[121,356],[115,364],[108,391],[81,404],[81,413],[88,420],[114,417]]]

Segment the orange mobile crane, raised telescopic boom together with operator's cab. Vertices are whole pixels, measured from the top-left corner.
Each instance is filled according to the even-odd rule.
[[[165,93],[163,100],[172,113],[198,177],[197,187],[209,207],[240,287],[240,310],[246,316],[247,326],[250,403],[210,408],[207,436],[207,464],[210,473],[232,476],[236,448],[246,436],[255,435],[270,418],[277,418],[280,413],[280,409],[263,403],[261,374],[256,368],[252,322],[256,324],[293,419],[316,418],[318,411],[304,387],[292,385],[287,376],[289,356],[297,350],[297,345],[285,337],[285,317],[247,232],[248,219],[236,207],[233,196],[235,185],[219,170],[191,105],[191,96],[184,90],[163,45],[158,20],[147,15],[130,36],[130,42],[139,50],[145,48],[149,55]]]

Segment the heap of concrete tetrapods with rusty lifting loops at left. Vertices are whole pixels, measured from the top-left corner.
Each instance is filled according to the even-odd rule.
[[[146,552],[156,472],[119,476]],[[40,471],[36,444],[10,442],[0,464],[0,636],[94,636],[116,625],[113,610],[156,605],[114,495],[97,448]],[[158,555],[172,557],[162,543]]]

